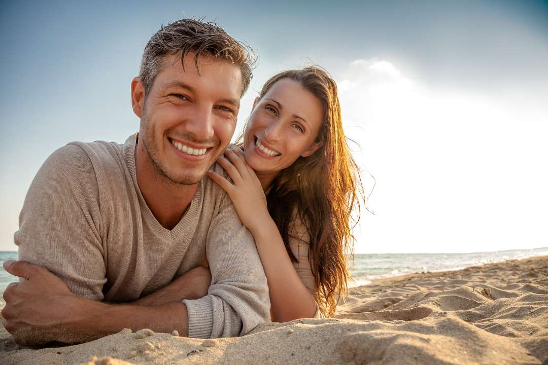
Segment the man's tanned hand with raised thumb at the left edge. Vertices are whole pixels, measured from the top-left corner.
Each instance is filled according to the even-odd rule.
[[[80,299],[70,292],[59,277],[40,266],[7,260],[4,269],[25,279],[13,282],[4,291],[2,324],[20,345],[50,341],[71,343],[67,331],[70,318],[80,316]]]

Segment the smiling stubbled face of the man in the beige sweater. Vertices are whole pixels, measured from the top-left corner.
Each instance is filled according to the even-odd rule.
[[[139,140],[159,175],[196,184],[229,145],[242,91],[237,66],[189,53],[166,55],[142,102]],[[134,107],[135,109],[135,107]]]

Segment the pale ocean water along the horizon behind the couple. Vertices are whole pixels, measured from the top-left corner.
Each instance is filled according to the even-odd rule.
[[[464,269],[466,266],[482,265],[512,259],[548,255],[548,247],[528,250],[508,250],[472,253],[370,253],[356,254],[350,265],[350,273],[355,282],[350,287],[366,285],[374,279],[421,273],[424,271],[447,271]],[[16,260],[17,252],[0,251],[0,293],[16,277],[3,268],[5,260]],[[0,296],[0,308],[3,300]]]

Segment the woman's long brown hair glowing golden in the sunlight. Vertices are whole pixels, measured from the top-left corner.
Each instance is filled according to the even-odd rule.
[[[308,259],[316,281],[316,302],[324,315],[333,316],[351,279],[346,264],[354,248],[350,219],[357,208],[355,223],[359,220],[361,178],[344,134],[335,81],[318,66],[284,71],[262,86],[259,98],[284,78],[300,83],[321,101],[323,123],[316,138],[321,147],[278,173],[267,205],[293,262],[298,260],[289,247],[292,212],[304,223],[310,236]]]

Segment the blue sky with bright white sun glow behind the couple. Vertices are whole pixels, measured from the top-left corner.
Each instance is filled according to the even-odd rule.
[[[332,74],[368,198],[357,253],[548,246],[548,1],[204,3],[0,3],[0,251],[49,154],[138,130],[142,49],[191,16],[259,55],[235,135],[273,74]]]

